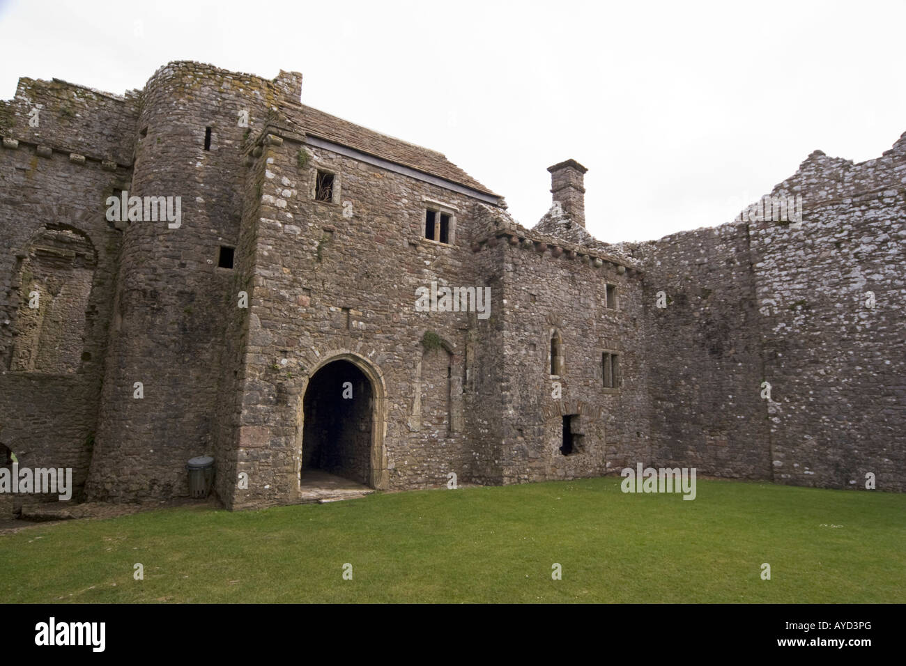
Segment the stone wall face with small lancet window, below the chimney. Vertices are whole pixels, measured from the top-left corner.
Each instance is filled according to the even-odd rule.
[[[501,482],[601,476],[650,458],[644,316],[637,262],[529,231],[486,210],[501,296],[489,320],[502,335]],[[607,285],[611,285],[608,302]],[[609,307],[612,305],[612,307]],[[552,359],[552,340],[560,358]],[[619,356],[605,385],[603,354]],[[566,455],[564,417],[576,444]],[[569,419],[573,417],[572,419]]]

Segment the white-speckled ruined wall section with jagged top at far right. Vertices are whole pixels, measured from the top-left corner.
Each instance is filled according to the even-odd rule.
[[[804,207],[752,228],[774,479],[902,491],[906,135],[860,164],[815,151],[772,196]]]

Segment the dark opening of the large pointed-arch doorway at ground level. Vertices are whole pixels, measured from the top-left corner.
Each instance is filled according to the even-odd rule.
[[[301,478],[322,470],[375,487],[375,396],[371,380],[345,359],[315,372],[303,400]]]

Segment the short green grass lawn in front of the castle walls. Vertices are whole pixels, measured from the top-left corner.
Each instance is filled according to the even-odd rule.
[[[906,602],[906,495],[620,480],[35,526],[0,536],[0,602]]]

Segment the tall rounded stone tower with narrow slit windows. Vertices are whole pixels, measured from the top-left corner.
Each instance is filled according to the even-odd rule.
[[[251,131],[239,114],[262,123],[273,104],[271,82],[188,62],[162,67],[142,92],[129,194],[179,197],[181,220],[125,231],[92,498],[186,496],[188,458],[216,453],[235,270],[218,256],[236,246]]]

